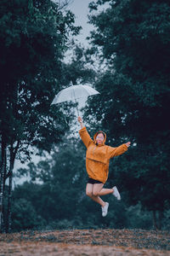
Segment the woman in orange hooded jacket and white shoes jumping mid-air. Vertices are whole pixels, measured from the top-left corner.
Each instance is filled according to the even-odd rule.
[[[108,212],[109,203],[103,201],[99,196],[112,194],[116,196],[117,200],[121,200],[121,195],[116,186],[112,189],[103,189],[109,174],[109,161],[112,157],[127,151],[130,142],[124,143],[117,148],[112,148],[105,145],[106,134],[104,131],[96,132],[93,140],[89,136],[80,116],[78,117],[78,122],[81,125],[80,137],[87,148],[86,169],[88,172],[88,183],[86,195],[99,203],[102,208],[102,216],[105,217]]]

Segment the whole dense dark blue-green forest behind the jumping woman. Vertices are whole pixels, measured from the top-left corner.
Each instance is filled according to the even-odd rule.
[[[107,3],[107,8],[102,7]],[[89,4],[89,47],[69,1],[0,2],[0,230],[170,228],[170,3],[98,0]],[[70,50],[70,61],[65,62]],[[91,137],[132,142],[111,160],[106,218],[85,195],[85,147],[75,105],[50,106],[59,90],[90,83],[100,95],[82,110]],[[50,157],[35,164],[31,155]],[[14,173],[14,160],[27,168]],[[13,178],[27,177],[13,186]]]

